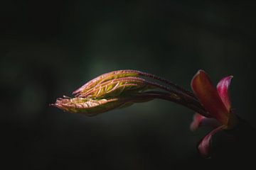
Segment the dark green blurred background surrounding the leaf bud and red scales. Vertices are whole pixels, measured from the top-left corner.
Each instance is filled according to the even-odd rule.
[[[255,5],[218,1],[1,1],[1,154],[19,169],[175,169],[208,160],[193,111],[154,100],[95,117],[49,106],[117,69],[190,89],[198,69],[233,75],[233,108],[254,127]],[[4,152],[3,152],[4,151]]]

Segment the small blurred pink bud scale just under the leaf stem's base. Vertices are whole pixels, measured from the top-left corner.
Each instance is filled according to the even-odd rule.
[[[195,131],[203,125],[217,128],[218,126],[220,126],[220,123],[214,118],[206,118],[205,116],[199,113],[195,113],[193,116],[193,122],[190,125],[191,131]]]

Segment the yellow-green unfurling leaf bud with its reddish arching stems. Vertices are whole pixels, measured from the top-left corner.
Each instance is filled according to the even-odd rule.
[[[169,84],[172,89],[142,79],[141,76],[162,81]],[[161,89],[162,91],[150,91],[152,89]],[[131,106],[133,103],[161,98],[206,114],[204,108],[191,93],[172,84],[171,81],[136,70],[119,70],[102,74],[81,86],[73,94],[75,94],[75,98],[58,98],[52,106],[70,113],[97,115],[114,108],[123,108]]]

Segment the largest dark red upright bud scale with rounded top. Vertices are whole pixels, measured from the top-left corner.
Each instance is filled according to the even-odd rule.
[[[217,89],[211,84],[206,72],[199,70],[191,81],[191,88],[206,111],[224,125],[228,124],[228,110],[218,95]]]

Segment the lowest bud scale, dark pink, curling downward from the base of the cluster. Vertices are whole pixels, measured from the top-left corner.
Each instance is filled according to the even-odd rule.
[[[210,152],[210,142],[213,137],[213,135],[216,132],[219,132],[220,130],[223,130],[225,128],[225,125],[219,126],[218,128],[215,128],[215,130],[211,131],[203,137],[203,140],[198,145],[198,151],[203,157],[209,157],[209,152]]]

